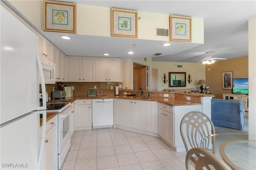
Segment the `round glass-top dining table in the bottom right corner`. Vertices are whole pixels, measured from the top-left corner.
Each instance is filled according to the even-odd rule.
[[[206,144],[210,143],[209,146]],[[256,135],[243,133],[212,134],[202,138],[198,147],[215,150],[233,170],[256,170]]]

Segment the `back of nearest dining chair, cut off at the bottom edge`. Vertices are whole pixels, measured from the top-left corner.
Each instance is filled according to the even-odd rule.
[[[186,154],[186,170],[231,170],[218,156],[203,148],[192,148]]]

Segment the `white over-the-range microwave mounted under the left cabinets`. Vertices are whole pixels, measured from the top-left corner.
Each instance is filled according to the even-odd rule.
[[[45,84],[55,84],[56,64],[44,58],[40,58],[44,73]]]

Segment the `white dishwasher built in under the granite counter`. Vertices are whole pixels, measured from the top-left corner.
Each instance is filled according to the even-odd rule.
[[[92,128],[112,128],[113,124],[113,98],[92,99]]]

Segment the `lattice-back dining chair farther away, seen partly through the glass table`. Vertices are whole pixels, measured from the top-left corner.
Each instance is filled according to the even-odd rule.
[[[184,142],[186,152],[190,148],[197,148],[202,138],[215,134],[212,120],[203,112],[192,111],[185,114],[180,123],[180,134]],[[211,147],[212,145],[212,147]],[[215,137],[206,138],[202,148],[215,154]]]

